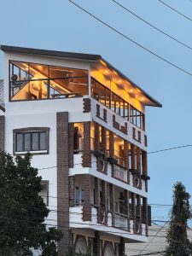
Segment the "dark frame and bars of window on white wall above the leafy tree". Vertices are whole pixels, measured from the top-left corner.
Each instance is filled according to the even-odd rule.
[[[40,133],[45,133],[45,149],[40,149]],[[23,136],[23,144],[22,148],[25,149],[25,134],[30,134],[30,150],[17,151],[17,135],[22,134]],[[32,150],[32,133],[38,133],[38,150]],[[49,127],[27,127],[21,129],[13,130],[13,154],[14,155],[23,155],[26,153],[31,154],[49,154]]]

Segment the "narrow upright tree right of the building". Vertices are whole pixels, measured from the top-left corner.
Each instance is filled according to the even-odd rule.
[[[192,217],[189,206],[189,193],[183,183],[177,182],[173,186],[173,206],[169,229],[166,234],[167,256],[189,256],[192,252],[191,243],[187,236],[188,220]]]

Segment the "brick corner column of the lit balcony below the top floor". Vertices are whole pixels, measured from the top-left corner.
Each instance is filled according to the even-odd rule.
[[[84,153],[82,165],[83,167],[91,167],[90,122],[84,122]]]

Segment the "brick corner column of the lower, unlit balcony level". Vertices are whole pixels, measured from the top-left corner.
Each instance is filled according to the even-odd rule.
[[[83,221],[91,221],[90,191],[91,191],[90,174],[84,174]]]

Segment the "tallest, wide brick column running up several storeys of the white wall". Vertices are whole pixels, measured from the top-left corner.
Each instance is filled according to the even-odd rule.
[[[69,231],[68,187],[68,113],[56,113],[57,142],[57,226],[63,237],[58,242],[58,255],[67,253],[71,243]]]

